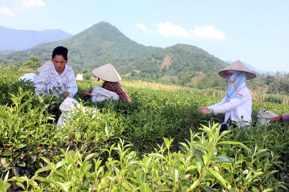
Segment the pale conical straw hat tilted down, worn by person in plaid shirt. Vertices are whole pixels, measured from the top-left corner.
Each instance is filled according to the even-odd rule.
[[[93,69],[92,73],[96,77],[105,81],[109,81],[109,82],[121,81],[121,77],[119,76],[117,70],[114,68],[114,66],[111,63],[108,63],[106,65]]]

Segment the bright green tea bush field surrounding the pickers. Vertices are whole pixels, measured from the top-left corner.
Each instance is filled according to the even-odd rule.
[[[0,191],[288,191],[289,127],[262,125],[260,108],[288,114],[288,98],[253,94],[250,126],[219,133],[224,115],[197,109],[224,92],[121,81],[131,103],[80,103],[34,94],[27,71],[0,70]]]

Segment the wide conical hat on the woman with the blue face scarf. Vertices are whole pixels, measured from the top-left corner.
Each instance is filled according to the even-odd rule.
[[[256,74],[253,73],[246,65],[244,65],[242,62],[235,61],[231,65],[225,67],[223,70],[219,71],[219,75],[221,77],[226,78],[227,72],[228,71],[240,71],[240,72],[245,72],[247,73],[247,80],[253,79],[256,77]]]

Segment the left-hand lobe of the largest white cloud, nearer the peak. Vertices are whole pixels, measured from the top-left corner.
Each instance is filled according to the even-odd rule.
[[[181,26],[174,25],[168,21],[157,24],[157,28],[159,33],[164,35],[165,37],[176,36],[185,39],[192,38],[192,36],[184,28],[182,28]]]

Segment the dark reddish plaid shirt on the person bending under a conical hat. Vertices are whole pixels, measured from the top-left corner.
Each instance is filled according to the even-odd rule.
[[[126,101],[131,102],[129,96],[127,95],[125,90],[121,87],[121,85],[118,82],[104,81],[104,83],[102,84],[102,88],[118,94],[119,100],[122,102],[126,102]]]

